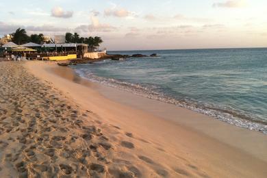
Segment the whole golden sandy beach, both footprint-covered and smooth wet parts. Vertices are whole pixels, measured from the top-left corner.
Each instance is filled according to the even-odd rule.
[[[81,79],[0,62],[1,177],[266,177],[267,137]]]

